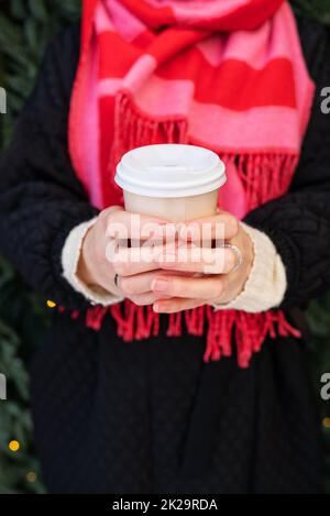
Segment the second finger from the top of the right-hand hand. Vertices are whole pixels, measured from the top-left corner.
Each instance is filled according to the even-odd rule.
[[[179,248],[157,256],[160,268],[200,274],[228,274],[237,266],[238,257],[230,248]]]

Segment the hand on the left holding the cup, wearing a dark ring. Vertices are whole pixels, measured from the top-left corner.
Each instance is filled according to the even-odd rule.
[[[128,248],[128,240],[150,241],[157,235],[163,239],[162,226],[166,223],[166,220],[129,213],[121,207],[106,209],[84,239],[79,279],[98,292],[129,298],[140,306],[153,304],[161,295],[152,292],[152,283],[165,274],[155,259],[157,248],[146,246],[141,252],[139,246]]]

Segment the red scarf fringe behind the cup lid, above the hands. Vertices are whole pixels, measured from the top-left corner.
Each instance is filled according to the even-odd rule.
[[[166,117],[155,121],[135,106],[128,91],[119,91],[116,96],[114,138],[109,176],[114,177],[113,171],[127,152],[139,146],[164,142],[205,146],[202,142],[189,140],[186,119]],[[218,154],[227,165],[230,163],[235,165],[244,187],[248,211],[287,191],[299,160],[297,153],[271,151],[254,151],[238,155],[218,150]],[[113,188],[116,190],[119,188],[114,180]]]

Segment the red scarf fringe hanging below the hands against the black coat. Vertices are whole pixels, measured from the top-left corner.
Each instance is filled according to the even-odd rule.
[[[58,311],[63,314],[64,307]],[[87,328],[99,331],[105,318],[111,315],[117,323],[117,334],[124,342],[134,342],[157,337],[161,332],[161,316],[153,311],[152,306],[136,306],[125,299],[110,307],[96,306],[86,311]],[[70,314],[76,320],[80,317],[77,310]],[[301,332],[294,328],[280,310],[262,314],[248,314],[237,310],[218,310],[205,305],[194,310],[170,314],[165,331],[167,337],[179,338],[188,334],[202,337],[206,333],[205,362],[217,362],[223,356],[237,355],[242,369],[249,367],[253,354],[258,353],[267,337],[301,338]]]

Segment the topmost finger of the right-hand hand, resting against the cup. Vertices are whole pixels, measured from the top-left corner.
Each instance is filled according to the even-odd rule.
[[[178,224],[179,237],[184,240],[231,240],[240,230],[235,217],[227,212],[219,212],[213,217],[190,220],[185,224]]]

